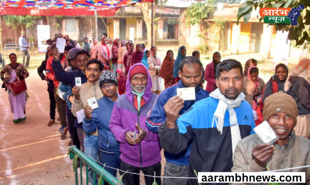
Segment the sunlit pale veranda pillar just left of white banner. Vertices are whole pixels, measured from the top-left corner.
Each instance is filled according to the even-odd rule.
[[[273,25],[263,24],[263,47],[261,51],[263,59],[270,59],[273,27]]]

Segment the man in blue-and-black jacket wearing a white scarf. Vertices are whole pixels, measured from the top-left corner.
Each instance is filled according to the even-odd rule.
[[[167,119],[158,130],[161,145],[167,152],[180,153],[193,142],[189,155],[189,177],[196,177],[194,170],[231,172],[237,143],[254,134],[252,107],[241,92],[240,62],[224,60],[219,63],[215,81],[219,88],[180,117],[183,98],[172,97],[164,106]],[[189,179],[189,185],[198,185],[197,179]]]

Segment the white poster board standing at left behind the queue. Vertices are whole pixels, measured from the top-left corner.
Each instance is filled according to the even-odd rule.
[[[38,50],[46,52],[48,44],[46,41],[50,39],[50,25],[38,25]]]

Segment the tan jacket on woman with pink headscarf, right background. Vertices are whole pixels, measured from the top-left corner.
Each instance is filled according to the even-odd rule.
[[[259,79],[259,89],[258,89],[259,95],[263,93],[264,85],[265,85],[264,80]],[[246,96],[245,100],[251,105],[251,107],[253,104],[254,88],[255,88],[255,83],[253,81],[250,81],[248,77],[244,77],[242,92]]]

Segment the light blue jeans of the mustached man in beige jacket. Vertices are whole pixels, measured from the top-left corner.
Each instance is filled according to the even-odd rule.
[[[98,136],[85,134],[84,137],[84,154],[97,160],[98,156]],[[93,180],[93,170],[88,168],[88,179],[91,181],[91,184],[94,185]],[[96,184],[98,183],[96,179]]]

